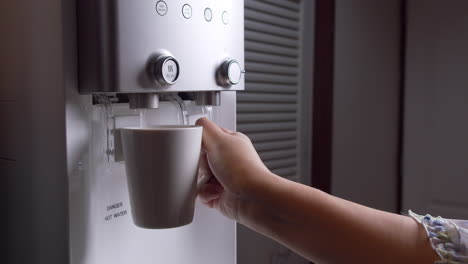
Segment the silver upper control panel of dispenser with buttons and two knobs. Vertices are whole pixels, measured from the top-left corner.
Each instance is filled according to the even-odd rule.
[[[79,89],[244,89],[242,0],[80,0]]]

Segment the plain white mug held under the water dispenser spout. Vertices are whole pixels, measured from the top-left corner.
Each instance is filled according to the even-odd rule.
[[[142,228],[192,222],[201,126],[122,128],[132,218]]]

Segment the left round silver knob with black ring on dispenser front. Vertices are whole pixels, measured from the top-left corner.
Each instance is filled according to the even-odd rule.
[[[179,78],[179,63],[174,57],[160,56],[150,66],[151,78],[162,85],[174,84]]]

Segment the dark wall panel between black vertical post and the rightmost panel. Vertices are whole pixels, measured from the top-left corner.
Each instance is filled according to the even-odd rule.
[[[400,1],[337,0],[332,193],[397,210]]]

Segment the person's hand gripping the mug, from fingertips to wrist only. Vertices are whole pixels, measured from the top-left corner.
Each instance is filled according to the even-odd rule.
[[[199,177],[214,176],[200,188],[199,197],[208,206],[239,221],[249,192],[272,174],[244,134],[221,128],[206,118],[199,119],[196,125],[203,126],[204,153]]]

